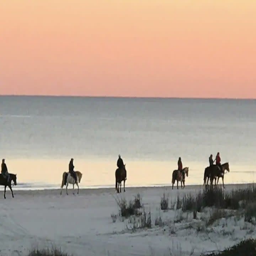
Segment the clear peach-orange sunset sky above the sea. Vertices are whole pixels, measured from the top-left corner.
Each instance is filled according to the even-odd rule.
[[[1,0],[0,94],[256,98],[255,0]]]

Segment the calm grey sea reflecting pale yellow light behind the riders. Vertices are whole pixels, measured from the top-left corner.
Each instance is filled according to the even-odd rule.
[[[81,187],[113,186],[118,154],[127,186],[170,184],[179,156],[202,184],[217,151],[226,183],[252,182],[255,113],[255,100],[1,96],[0,158],[24,189],[59,187],[71,157]]]

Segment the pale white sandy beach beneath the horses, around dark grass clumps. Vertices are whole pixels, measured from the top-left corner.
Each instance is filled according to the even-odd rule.
[[[226,185],[225,191],[247,185]],[[195,193],[202,186],[186,186],[184,190],[171,187],[126,188],[117,194],[111,189],[83,189],[75,196],[60,196],[60,190],[17,191],[14,198],[9,190],[0,199],[0,255],[26,255],[34,247],[57,246],[64,252],[83,255],[201,255],[202,252],[222,250],[244,238],[255,237],[256,231],[243,219],[220,220],[207,230],[198,231],[199,220],[187,215],[173,223],[179,211],[160,210],[160,197],[165,192],[175,199],[177,193]],[[75,191],[76,192],[76,191]],[[129,220],[117,218],[115,197],[127,201],[140,193],[146,212],[151,210],[152,228],[131,231]],[[186,213],[184,213],[186,215]],[[164,226],[155,226],[157,217]],[[198,214],[200,218],[200,214]],[[181,254],[182,251],[182,254]]]

